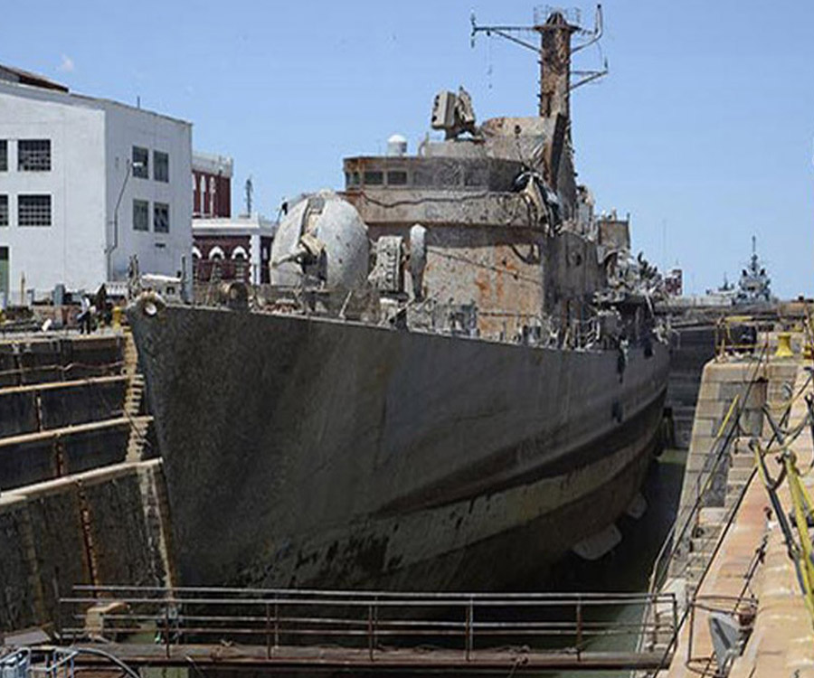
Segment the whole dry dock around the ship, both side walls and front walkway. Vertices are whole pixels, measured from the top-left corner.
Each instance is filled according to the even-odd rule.
[[[55,630],[136,668],[194,656],[227,672],[814,676],[814,560],[809,528],[798,529],[814,525],[811,340],[783,325],[763,320],[757,344],[718,345],[705,364],[677,522],[650,590],[603,597],[167,588],[162,461],[128,334],[0,343],[0,624]],[[613,609],[631,606],[635,624]],[[426,638],[441,636],[430,652]]]

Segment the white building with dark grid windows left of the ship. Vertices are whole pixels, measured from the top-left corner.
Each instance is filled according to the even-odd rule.
[[[0,302],[124,280],[132,255],[191,279],[192,125],[15,72],[0,67]]]

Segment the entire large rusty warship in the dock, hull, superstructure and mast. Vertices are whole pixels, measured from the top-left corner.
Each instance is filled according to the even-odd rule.
[[[538,116],[478,126],[442,92],[444,140],[288,206],[270,287],[128,309],[179,583],[496,589],[631,504],[667,386],[658,274],[575,183],[582,33],[532,30]]]

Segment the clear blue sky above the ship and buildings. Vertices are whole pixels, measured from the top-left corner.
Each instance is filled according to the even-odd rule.
[[[581,3],[583,23],[593,5]],[[479,119],[531,115],[532,52],[478,37],[534,3],[138,3],[0,0],[0,62],[194,123],[232,155],[235,210],[341,184],[344,155],[417,143],[438,89],[463,84]],[[576,162],[600,209],[630,212],[634,247],[678,263],[691,291],[735,278],[752,233],[782,297],[814,295],[814,3],[608,0],[611,74],[573,94]],[[27,30],[22,27],[28,26]],[[578,67],[601,63],[593,49]]]

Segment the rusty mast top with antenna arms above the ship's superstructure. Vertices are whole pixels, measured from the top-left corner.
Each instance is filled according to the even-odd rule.
[[[591,31],[579,25],[579,13],[546,7],[535,9],[533,25],[479,25],[475,13],[471,14],[472,33],[469,42],[475,46],[478,33],[491,37],[494,33],[509,42],[535,52],[540,58],[540,89],[537,97],[540,102],[540,116],[548,118],[556,114],[568,116],[568,94],[573,89],[598,80],[608,74],[608,60],[602,61],[598,71],[572,71],[571,55],[599,42],[602,36],[602,5],[596,5],[594,25]],[[537,33],[540,44],[530,42],[525,36]],[[571,36],[578,35],[582,42],[572,45]],[[576,81],[572,82],[572,76]]]

